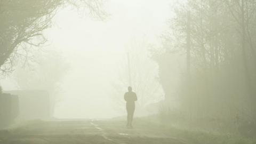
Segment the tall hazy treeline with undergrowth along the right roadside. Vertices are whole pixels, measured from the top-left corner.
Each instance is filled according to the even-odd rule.
[[[165,52],[158,57],[172,51],[186,55],[175,95],[181,114],[189,121],[255,135],[256,1],[193,0],[174,13],[163,37]],[[172,93],[167,82],[172,68],[156,60],[164,91]]]

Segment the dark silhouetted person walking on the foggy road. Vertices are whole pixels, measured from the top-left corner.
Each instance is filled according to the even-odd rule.
[[[137,95],[132,91],[132,87],[128,87],[128,92],[124,94],[124,100],[126,101],[127,110],[127,128],[132,128],[133,114],[135,110],[135,101],[137,101]]]

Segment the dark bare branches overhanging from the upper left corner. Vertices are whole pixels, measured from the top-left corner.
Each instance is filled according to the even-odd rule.
[[[105,18],[101,0],[0,0],[0,71],[12,71],[16,58],[29,59],[28,51],[46,42],[42,32],[51,27],[54,14],[70,4]]]

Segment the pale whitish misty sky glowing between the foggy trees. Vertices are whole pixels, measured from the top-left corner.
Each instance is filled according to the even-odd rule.
[[[127,60],[126,52],[133,42],[145,45],[141,48],[145,51],[141,56],[146,59],[146,65],[156,71],[151,78],[157,77],[158,67],[147,58],[147,46],[161,42],[159,36],[167,29],[166,21],[171,17],[170,4],[167,0],[108,0],[105,10],[109,17],[105,21],[93,21],[75,9],[60,10],[52,28],[44,32],[50,44],[45,49],[60,52],[70,65],[62,80],[61,101],[57,103],[54,116],[106,118],[124,115],[124,109],[113,109],[109,96],[113,89],[111,84],[118,79],[120,65]],[[2,81],[5,90],[17,89],[8,81]],[[163,93],[162,90],[159,93]]]

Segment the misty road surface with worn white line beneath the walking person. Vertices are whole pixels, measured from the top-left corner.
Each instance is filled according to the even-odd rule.
[[[126,129],[125,121],[33,121],[0,131],[1,144],[98,144],[98,143],[188,143],[173,137],[165,126],[134,122],[134,129]]]

